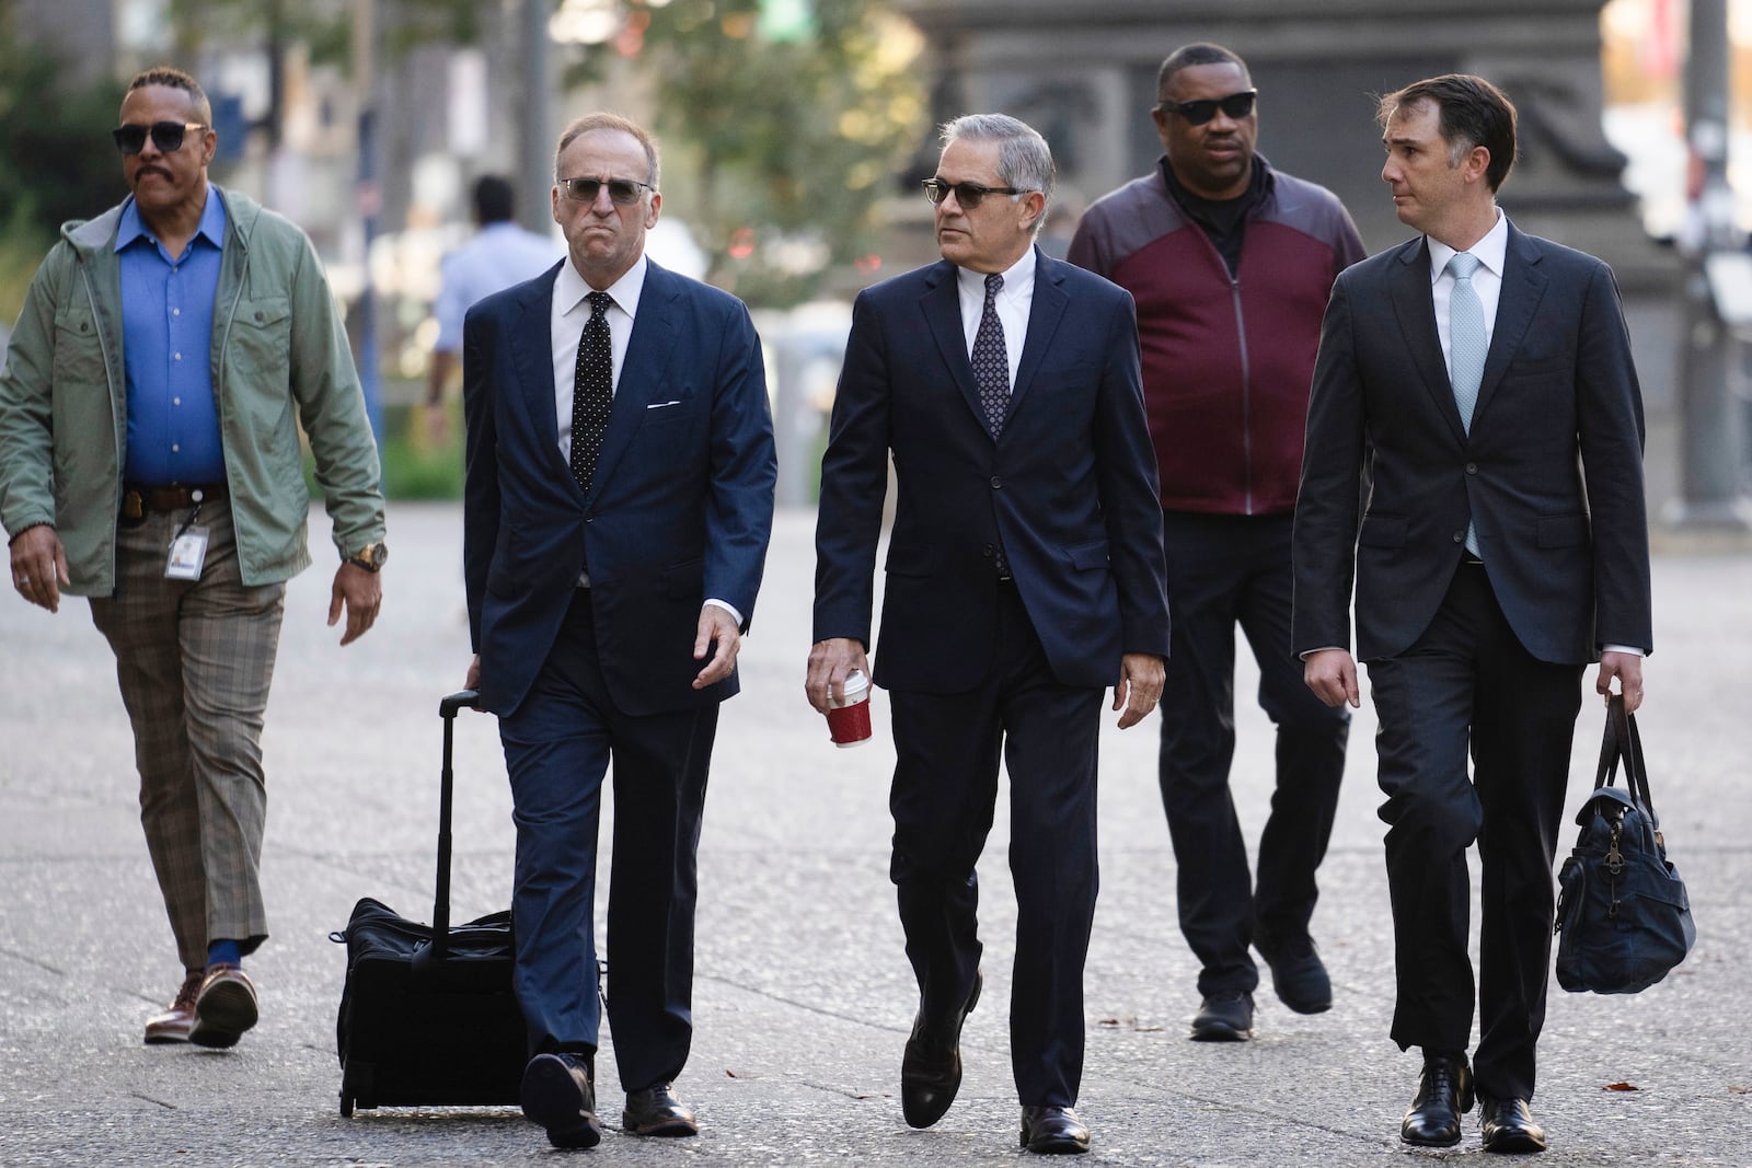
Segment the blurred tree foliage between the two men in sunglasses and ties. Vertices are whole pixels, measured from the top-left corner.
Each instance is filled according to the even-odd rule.
[[[883,0],[622,0],[568,81],[636,56],[655,89],[671,212],[708,278],[788,306],[876,247],[878,203],[923,133],[920,40]]]

